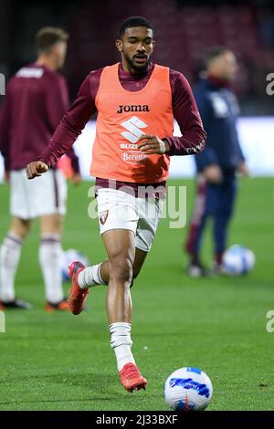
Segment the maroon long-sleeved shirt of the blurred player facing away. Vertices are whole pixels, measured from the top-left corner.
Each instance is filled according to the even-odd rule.
[[[0,111],[0,150],[5,170],[19,170],[36,161],[67,109],[65,78],[36,63],[21,68],[7,85]],[[78,173],[78,157],[72,149],[68,156]]]

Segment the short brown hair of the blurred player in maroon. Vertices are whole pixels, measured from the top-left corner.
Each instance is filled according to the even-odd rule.
[[[68,33],[62,28],[54,26],[44,26],[41,28],[36,35],[36,46],[37,51],[47,52],[51,47],[53,47],[58,42],[67,42]]]

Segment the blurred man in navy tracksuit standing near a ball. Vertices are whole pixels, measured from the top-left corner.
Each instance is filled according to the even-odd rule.
[[[237,59],[227,47],[210,47],[205,53],[206,75],[195,88],[195,100],[207,133],[205,151],[195,156],[197,188],[195,210],[185,249],[190,256],[190,277],[208,274],[200,258],[206,219],[213,217],[215,272],[221,271],[227,246],[227,228],[237,192],[237,172],[248,167],[237,136],[237,99],[230,89]]]

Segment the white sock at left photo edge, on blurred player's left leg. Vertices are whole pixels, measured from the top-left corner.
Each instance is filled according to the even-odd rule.
[[[0,300],[13,301],[16,298],[15,277],[21,256],[23,240],[9,232],[0,248]]]

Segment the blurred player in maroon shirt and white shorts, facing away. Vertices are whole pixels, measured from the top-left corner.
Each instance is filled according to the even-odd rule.
[[[67,183],[54,168],[37,182],[26,179],[27,162],[46,147],[68,109],[66,81],[57,70],[64,64],[68,34],[44,27],[36,37],[37,61],[11,78],[0,112],[0,150],[5,158],[5,179],[10,183],[11,225],[0,250],[0,302],[5,309],[30,309],[16,298],[15,277],[21,248],[32,219],[39,217],[39,261],[46,288],[46,309],[68,309],[62,290],[60,234],[66,211]],[[79,183],[79,162],[72,150],[73,182]],[[32,267],[29,261],[29,267]]]

